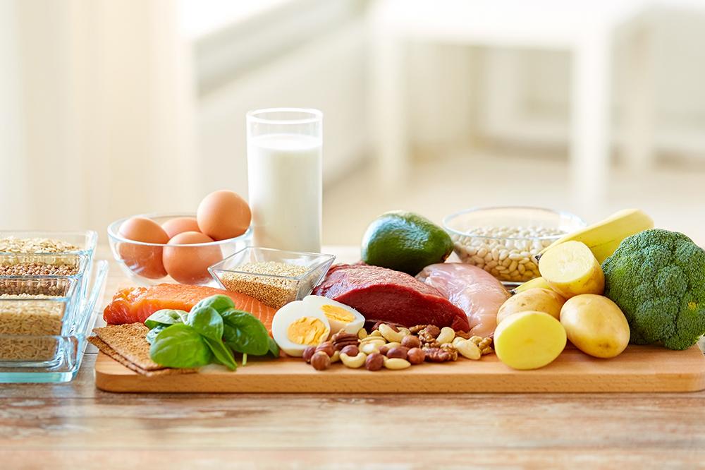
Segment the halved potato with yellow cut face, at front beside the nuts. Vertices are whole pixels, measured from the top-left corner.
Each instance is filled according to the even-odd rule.
[[[565,330],[548,313],[527,311],[505,318],[494,331],[494,351],[515,369],[537,369],[553,362],[565,347]]]

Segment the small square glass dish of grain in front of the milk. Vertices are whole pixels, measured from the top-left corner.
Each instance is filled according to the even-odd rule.
[[[335,259],[321,253],[248,247],[208,270],[223,289],[281,308],[311,294]]]

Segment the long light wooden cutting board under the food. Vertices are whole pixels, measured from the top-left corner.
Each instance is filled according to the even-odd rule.
[[[318,372],[301,359],[259,358],[235,373],[149,378],[101,353],[95,383],[109,392],[694,392],[705,389],[705,356],[697,346],[687,351],[630,346],[605,360],[571,348],[538,370],[512,370],[492,354],[481,361],[459,359],[377,372],[340,363]]]

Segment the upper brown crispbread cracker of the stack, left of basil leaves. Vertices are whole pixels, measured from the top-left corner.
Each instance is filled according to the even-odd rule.
[[[145,337],[149,328],[142,323],[108,325],[93,332],[117,354],[144,370],[163,369],[149,357],[149,343]]]

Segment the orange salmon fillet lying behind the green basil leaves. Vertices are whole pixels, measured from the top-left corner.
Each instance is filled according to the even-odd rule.
[[[274,308],[238,292],[185,284],[158,284],[152,287],[120,289],[103,311],[103,319],[109,325],[144,323],[149,315],[162,308],[188,312],[198,302],[216,294],[223,294],[233,299],[235,308],[252,313],[271,332],[271,320],[276,313]]]

